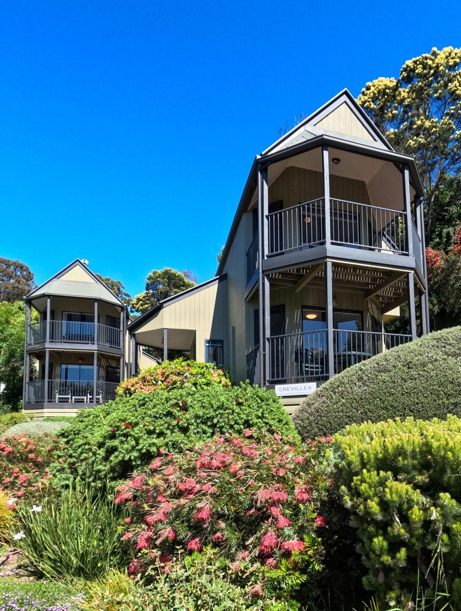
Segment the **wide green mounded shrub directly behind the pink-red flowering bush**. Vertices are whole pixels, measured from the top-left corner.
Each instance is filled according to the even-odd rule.
[[[64,464],[54,469],[61,482],[75,474],[120,481],[149,464],[161,448],[175,452],[217,433],[254,429],[298,439],[275,393],[249,384],[138,392],[81,410],[74,420],[59,435],[66,444]]]

